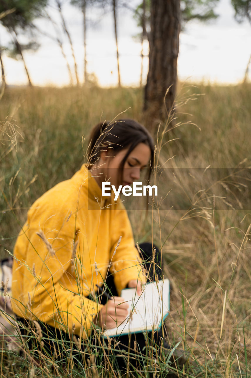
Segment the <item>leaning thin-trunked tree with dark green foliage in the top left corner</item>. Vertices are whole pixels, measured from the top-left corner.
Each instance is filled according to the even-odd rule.
[[[28,29],[32,31],[32,21],[35,17],[40,15],[41,9],[46,5],[47,0],[0,0],[0,12],[8,12],[10,9],[15,9],[15,11],[0,19],[0,22],[12,36],[13,51],[15,50],[23,60],[29,85],[32,85],[32,82],[23,56],[23,47],[25,45],[19,43],[18,33],[20,31],[27,31]],[[29,44],[27,44],[26,47],[28,47],[28,45]],[[30,46],[32,46],[32,44]]]

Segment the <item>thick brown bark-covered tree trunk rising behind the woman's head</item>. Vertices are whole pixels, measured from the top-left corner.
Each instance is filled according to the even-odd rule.
[[[170,116],[173,111],[179,31],[179,0],[152,1],[149,71],[144,96],[144,111],[149,129],[153,122],[157,125],[167,115]]]

